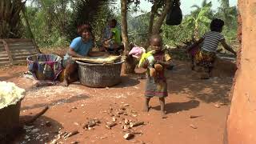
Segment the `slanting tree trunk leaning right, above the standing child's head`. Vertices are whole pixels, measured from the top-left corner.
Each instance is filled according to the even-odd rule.
[[[170,6],[171,6],[172,3],[173,3],[173,0],[166,0],[166,6],[164,7],[160,18],[158,18],[158,21],[155,23],[152,34],[159,34],[159,31],[160,31],[161,26],[162,26],[162,22],[165,20],[166,14],[170,10]]]

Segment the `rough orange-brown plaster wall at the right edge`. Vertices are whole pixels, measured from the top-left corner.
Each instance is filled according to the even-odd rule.
[[[238,0],[238,9],[242,20],[242,49],[232,91],[233,98],[227,121],[227,139],[229,144],[255,144],[256,0]]]

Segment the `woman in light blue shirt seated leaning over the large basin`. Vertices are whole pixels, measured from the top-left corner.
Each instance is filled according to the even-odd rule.
[[[62,86],[68,86],[71,82],[78,80],[78,66],[72,59],[84,58],[85,56],[102,56],[102,53],[92,52],[94,46],[91,27],[88,24],[84,24],[78,28],[78,34],[81,35],[78,38],[74,38],[70,44],[69,50],[63,58],[62,65],[65,68],[64,79]]]

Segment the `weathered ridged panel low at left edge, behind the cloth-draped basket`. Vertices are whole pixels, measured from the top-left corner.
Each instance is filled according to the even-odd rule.
[[[40,50],[32,39],[0,39],[0,66],[26,63],[28,56],[39,53]]]

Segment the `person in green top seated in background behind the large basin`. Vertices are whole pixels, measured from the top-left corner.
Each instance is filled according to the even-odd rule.
[[[117,54],[123,49],[121,30],[117,26],[117,20],[111,19],[109,26],[103,30],[102,50]]]

